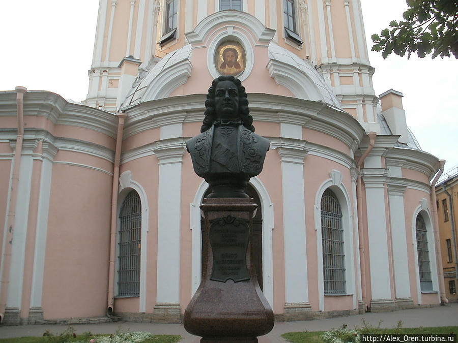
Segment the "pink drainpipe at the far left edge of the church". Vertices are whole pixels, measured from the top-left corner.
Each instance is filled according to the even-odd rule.
[[[8,286],[10,284],[10,267],[11,267],[11,249],[13,245],[14,219],[16,216],[16,199],[17,185],[19,183],[19,168],[21,165],[22,141],[24,139],[24,93],[27,91],[25,87],[16,87],[16,106],[17,106],[17,138],[16,151],[14,152],[14,163],[11,179],[11,194],[8,204],[7,214],[7,236],[5,251],[3,253],[3,271],[0,290],[0,323],[5,319],[5,307],[8,297]]]

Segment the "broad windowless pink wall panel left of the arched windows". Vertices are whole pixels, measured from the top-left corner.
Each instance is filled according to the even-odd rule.
[[[53,166],[43,283],[45,319],[106,313],[111,180],[88,168]]]

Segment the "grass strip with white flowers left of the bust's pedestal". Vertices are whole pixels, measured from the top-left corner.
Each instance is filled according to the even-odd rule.
[[[60,334],[45,331],[42,337],[2,338],[0,343],[174,343],[181,340],[179,335],[153,335],[148,332],[116,331],[114,334],[93,334],[84,332],[77,335],[70,326]]]

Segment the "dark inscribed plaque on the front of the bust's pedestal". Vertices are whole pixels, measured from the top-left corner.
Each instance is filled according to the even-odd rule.
[[[250,238],[248,224],[232,215],[215,220],[210,225],[210,245],[213,252],[211,280],[239,282],[249,280],[246,250]]]

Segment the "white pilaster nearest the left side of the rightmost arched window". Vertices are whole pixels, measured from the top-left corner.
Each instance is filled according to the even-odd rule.
[[[395,296],[396,298],[410,298],[406,217],[404,213],[404,191],[406,190],[406,185],[402,179],[390,179],[387,185],[390,204]]]

